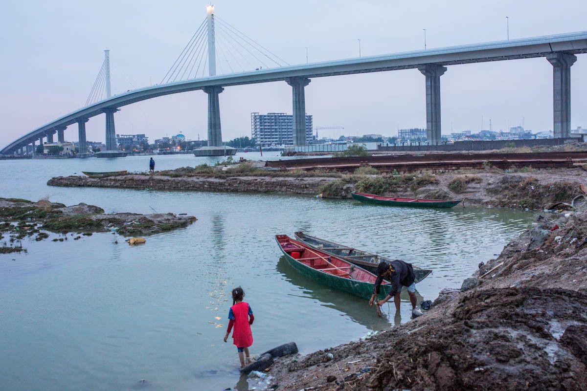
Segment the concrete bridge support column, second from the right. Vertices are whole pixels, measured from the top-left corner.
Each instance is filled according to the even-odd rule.
[[[446,67],[430,64],[418,70],[426,76],[426,138],[429,145],[440,145],[440,76]]]

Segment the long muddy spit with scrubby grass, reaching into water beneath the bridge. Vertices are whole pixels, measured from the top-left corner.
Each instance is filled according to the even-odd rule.
[[[408,198],[464,199],[465,205],[544,209],[556,202],[571,203],[582,194],[585,171],[573,169],[497,169],[443,174],[376,175],[359,171],[267,172],[258,168],[206,172],[184,168],[154,175],[130,174],[95,179],[58,176],[51,186],[158,189],[181,191],[258,192],[350,198],[356,190]],[[375,171],[376,172],[376,171]]]

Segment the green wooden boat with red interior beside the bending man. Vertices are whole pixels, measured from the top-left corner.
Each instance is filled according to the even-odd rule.
[[[287,235],[275,235],[275,240],[289,264],[299,273],[330,288],[366,300],[371,298],[377,279],[375,274],[332,254],[314,249],[299,240],[291,239]],[[392,284],[383,281],[381,285],[383,296],[389,294],[390,290],[392,290]]]

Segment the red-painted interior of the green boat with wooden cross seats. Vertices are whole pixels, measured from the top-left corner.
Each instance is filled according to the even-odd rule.
[[[291,239],[287,235],[276,235],[275,237],[285,253],[299,263],[324,273],[332,274],[333,276],[375,283],[377,278],[375,274],[369,273],[369,271],[357,267],[348,261],[333,257],[319,250],[311,249],[308,244],[298,242],[298,240]],[[383,284],[387,284],[387,281],[383,281]]]

